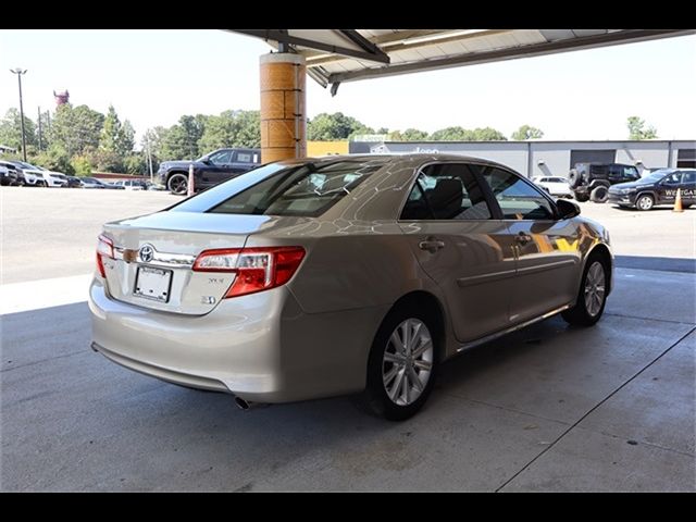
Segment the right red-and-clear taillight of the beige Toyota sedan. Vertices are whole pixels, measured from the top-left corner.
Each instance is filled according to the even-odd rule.
[[[204,250],[196,258],[192,270],[235,273],[225,297],[237,297],[284,285],[297,272],[302,258],[302,247]]]

